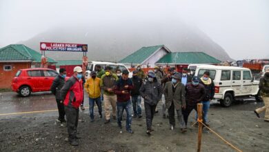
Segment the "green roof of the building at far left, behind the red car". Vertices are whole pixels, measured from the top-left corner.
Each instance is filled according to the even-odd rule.
[[[9,46],[0,49],[0,60],[30,60],[41,62],[41,53],[38,53],[23,44],[10,44]],[[56,63],[56,61],[50,57],[48,57],[48,62]]]

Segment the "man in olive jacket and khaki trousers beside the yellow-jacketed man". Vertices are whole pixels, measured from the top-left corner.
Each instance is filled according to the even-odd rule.
[[[116,101],[117,97],[114,94],[114,87],[118,81],[117,75],[111,72],[112,68],[106,66],[106,74],[101,77],[101,88],[103,89],[103,101],[106,113],[105,124],[110,123],[110,105],[112,106],[112,116],[116,120]]]

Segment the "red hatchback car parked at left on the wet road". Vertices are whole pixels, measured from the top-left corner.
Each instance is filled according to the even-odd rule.
[[[54,77],[59,75],[50,68],[26,68],[18,70],[12,79],[12,91],[22,97],[28,97],[31,93],[50,91]]]

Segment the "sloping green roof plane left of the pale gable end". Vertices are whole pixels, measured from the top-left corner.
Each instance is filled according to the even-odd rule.
[[[148,47],[142,47],[139,50],[135,51],[135,53],[132,53],[131,55],[128,55],[124,59],[121,59],[119,63],[128,63],[128,64],[141,64],[143,61],[148,59],[150,55],[155,53],[160,48],[164,47],[163,45],[160,46],[148,46]]]

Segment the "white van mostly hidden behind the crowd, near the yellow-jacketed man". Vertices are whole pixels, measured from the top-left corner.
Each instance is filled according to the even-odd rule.
[[[90,78],[90,73],[92,72],[92,70],[95,70],[95,66],[101,66],[102,69],[105,69],[106,66],[110,66],[112,68],[112,70],[116,70],[119,69],[121,70],[121,72],[123,70],[128,70],[128,68],[126,68],[126,66],[124,66],[124,64],[116,64],[116,63],[112,63],[112,62],[107,62],[107,61],[89,61],[88,62],[88,68],[86,70],[86,79]],[[129,71],[129,77],[132,77],[132,73],[130,73]]]

